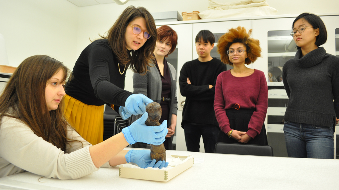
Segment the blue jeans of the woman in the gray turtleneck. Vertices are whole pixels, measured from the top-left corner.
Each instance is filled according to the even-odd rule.
[[[334,159],[333,127],[284,122],[288,157]]]

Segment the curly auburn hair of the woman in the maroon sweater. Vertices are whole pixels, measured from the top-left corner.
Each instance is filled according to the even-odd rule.
[[[245,27],[238,26],[237,28],[231,28],[227,33],[219,38],[217,51],[220,54],[222,62],[233,66],[230,62],[230,58],[227,55],[227,50],[234,43],[241,43],[246,47],[247,58],[245,64],[250,65],[255,62],[258,57],[261,56],[261,48],[259,46],[259,40],[250,38],[252,29],[246,32]]]

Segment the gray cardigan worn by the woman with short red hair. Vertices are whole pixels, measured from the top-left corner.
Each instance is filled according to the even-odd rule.
[[[149,65],[153,67],[147,66],[147,72],[145,75],[140,75],[139,73],[133,74],[133,89],[135,94],[144,94],[148,98],[152,99],[154,102],[158,102],[160,104],[161,100],[161,77],[159,71],[155,64],[150,63]],[[177,100],[177,72],[173,65],[167,62],[169,75],[172,80],[171,87],[171,102],[169,104],[169,116],[167,125],[171,125],[172,114],[177,115],[178,113],[178,100]],[[133,116],[132,122],[139,119],[141,115]]]

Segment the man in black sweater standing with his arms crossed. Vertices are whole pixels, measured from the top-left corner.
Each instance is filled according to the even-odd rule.
[[[179,86],[186,96],[181,127],[184,129],[187,151],[199,152],[200,137],[205,152],[214,152],[219,132],[213,102],[218,75],[226,65],[211,57],[215,38],[211,31],[201,30],[195,40],[198,58],[186,62],[180,71]]]

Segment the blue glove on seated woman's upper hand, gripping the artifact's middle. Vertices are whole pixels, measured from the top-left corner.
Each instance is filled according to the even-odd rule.
[[[147,126],[145,124],[147,117],[148,113],[145,112],[140,119],[122,129],[122,133],[129,144],[143,142],[160,145],[165,141],[168,133],[167,121],[164,120],[159,126]]]

